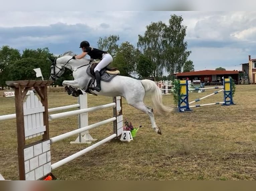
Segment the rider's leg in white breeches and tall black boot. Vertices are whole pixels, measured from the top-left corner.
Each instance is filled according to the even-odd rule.
[[[95,78],[96,78],[96,83],[97,86],[94,87],[94,90],[97,92],[101,91],[101,76],[100,76],[100,71],[108,66],[111,62],[113,61],[113,58],[110,54],[105,54],[102,57],[102,60],[99,62],[99,64],[95,67],[94,73],[95,73]]]

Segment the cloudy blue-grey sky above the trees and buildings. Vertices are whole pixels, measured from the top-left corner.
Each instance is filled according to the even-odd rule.
[[[182,25],[187,27],[185,41],[187,50],[192,52],[188,59],[193,61],[195,70],[241,70],[240,64],[248,62],[248,55],[256,59],[256,11],[127,11],[129,3],[123,3],[123,9],[111,10],[112,1],[110,5],[104,2],[96,10],[93,6],[81,9],[75,1],[63,10],[61,4],[58,8],[47,3],[24,6],[29,3],[25,0],[24,4],[11,7],[10,1],[5,2],[6,9],[0,8],[0,46],[9,45],[21,54],[25,48],[45,47],[55,55],[69,50],[80,54],[83,40],[97,48],[100,37],[119,35],[119,44],[128,41],[137,48],[138,35],[144,35],[147,25],[158,21],[168,24],[170,16],[176,14],[182,16]],[[164,10],[161,2],[151,8]],[[80,8],[76,10],[74,6]],[[189,10],[189,6],[184,9]]]

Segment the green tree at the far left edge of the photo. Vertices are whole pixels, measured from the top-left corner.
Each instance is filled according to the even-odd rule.
[[[2,46],[0,49],[0,86],[2,89],[6,86],[5,81],[11,80],[10,73],[13,71],[10,70],[10,66],[18,59],[20,59],[19,50]]]

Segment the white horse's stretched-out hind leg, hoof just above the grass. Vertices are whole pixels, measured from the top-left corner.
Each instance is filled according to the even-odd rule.
[[[128,102],[128,100],[127,100]],[[151,121],[151,125],[152,128],[154,129],[155,132],[157,132],[158,134],[162,134],[160,128],[157,127],[156,123],[155,123],[155,117],[153,114],[153,108],[150,108],[148,106],[146,106],[142,101],[140,102],[136,102],[136,103],[129,103],[129,105],[132,105],[133,107],[143,111],[144,113],[147,113],[150,117],[150,121]]]

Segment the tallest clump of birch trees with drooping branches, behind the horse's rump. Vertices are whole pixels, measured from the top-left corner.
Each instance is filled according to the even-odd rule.
[[[186,26],[183,18],[171,15],[168,26],[163,22],[146,26],[144,36],[139,35],[137,43],[140,51],[154,63],[153,76],[158,79],[164,70],[170,74],[181,72],[191,51],[187,51]]]

